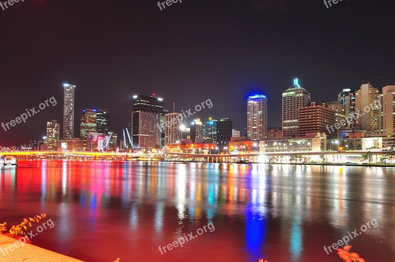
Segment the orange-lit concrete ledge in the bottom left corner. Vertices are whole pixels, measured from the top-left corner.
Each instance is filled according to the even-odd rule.
[[[15,241],[14,238],[0,235],[0,262],[81,262],[31,244]],[[12,251],[10,246],[11,249],[14,247]]]

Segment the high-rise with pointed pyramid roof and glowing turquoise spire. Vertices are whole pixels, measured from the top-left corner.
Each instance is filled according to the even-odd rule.
[[[282,135],[295,137],[300,135],[299,111],[310,103],[310,92],[299,85],[298,79],[282,93]]]

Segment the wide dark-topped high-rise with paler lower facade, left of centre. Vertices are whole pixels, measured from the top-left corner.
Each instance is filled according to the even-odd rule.
[[[133,147],[164,147],[165,117],[163,99],[152,96],[133,96],[132,142]]]

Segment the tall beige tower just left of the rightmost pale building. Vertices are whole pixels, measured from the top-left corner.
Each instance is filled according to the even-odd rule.
[[[360,130],[378,133],[378,99],[379,89],[370,83],[362,84],[356,91],[357,126]]]

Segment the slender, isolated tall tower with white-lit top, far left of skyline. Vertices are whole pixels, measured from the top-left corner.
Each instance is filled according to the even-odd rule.
[[[63,139],[74,138],[75,85],[63,85]]]

